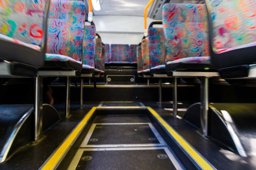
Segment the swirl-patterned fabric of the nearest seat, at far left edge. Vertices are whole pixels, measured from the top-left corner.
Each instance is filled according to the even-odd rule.
[[[1,1],[0,38],[39,50],[46,3],[46,0]]]

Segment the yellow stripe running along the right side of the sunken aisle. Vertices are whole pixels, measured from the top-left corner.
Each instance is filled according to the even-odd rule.
[[[169,124],[162,119],[151,107],[148,110],[156,117],[157,120],[170,132],[170,134],[177,140],[177,142],[187,151],[187,153],[197,162],[197,164],[206,170],[214,170],[209,163],[207,163]]]

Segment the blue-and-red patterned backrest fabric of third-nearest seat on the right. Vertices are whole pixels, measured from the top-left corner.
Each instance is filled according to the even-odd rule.
[[[163,28],[148,28],[150,68],[165,64],[165,37]]]

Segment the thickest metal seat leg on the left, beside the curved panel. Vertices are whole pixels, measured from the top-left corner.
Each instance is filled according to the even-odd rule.
[[[42,119],[43,119],[43,77],[36,76],[35,84],[35,102],[34,102],[34,115],[35,115],[35,136],[34,140],[38,141],[42,138]]]

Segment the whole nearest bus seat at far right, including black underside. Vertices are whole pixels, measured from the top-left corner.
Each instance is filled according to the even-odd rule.
[[[222,78],[249,77],[256,63],[256,3],[235,2],[206,0],[211,61]]]

